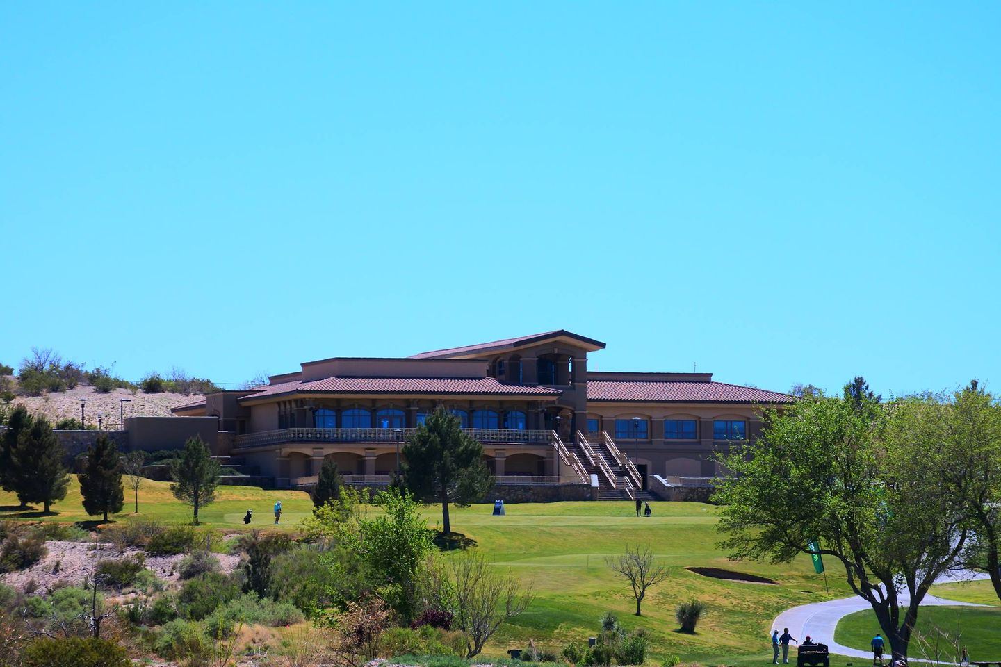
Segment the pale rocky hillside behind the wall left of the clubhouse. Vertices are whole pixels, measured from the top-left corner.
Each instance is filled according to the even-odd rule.
[[[24,405],[31,412],[45,415],[53,423],[65,418],[80,418],[80,399],[86,399],[84,416],[87,424],[97,424],[98,413],[105,415],[105,425],[118,424],[119,401],[131,399],[125,403],[125,417],[138,416],[171,416],[170,408],[185,403],[194,403],[202,396],[186,396],[184,394],[144,394],[141,391],[132,393],[128,389],[113,389],[107,394],[99,394],[93,387],[78,386],[67,391],[53,392],[44,396],[18,396],[14,405]]]

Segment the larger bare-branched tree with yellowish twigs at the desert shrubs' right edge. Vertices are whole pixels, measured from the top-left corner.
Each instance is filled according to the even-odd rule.
[[[479,554],[465,554],[451,561],[455,585],[453,622],[465,633],[466,658],[483,649],[502,623],[524,612],[535,599],[530,584],[524,590],[509,572],[490,570]]]

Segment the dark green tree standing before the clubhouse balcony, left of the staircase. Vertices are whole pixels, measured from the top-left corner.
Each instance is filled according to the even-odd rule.
[[[403,446],[406,488],[419,500],[441,503],[445,534],[451,532],[448,503],[464,507],[489,491],[493,480],[483,446],[461,429],[458,417],[438,408]]]

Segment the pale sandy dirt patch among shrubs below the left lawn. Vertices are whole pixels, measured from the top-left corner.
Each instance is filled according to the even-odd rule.
[[[119,553],[110,544],[94,542],[64,542],[51,540],[45,543],[47,553],[40,561],[31,567],[0,575],[0,581],[24,590],[25,585],[34,580],[35,586],[43,591],[50,590],[55,585],[79,584],[90,574],[90,569],[102,558],[123,558],[142,553],[138,549],[126,549]],[[239,565],[240,557],[231,554],[213,554],[219,559],[219,565],[225,573],[232,572]],[[177,564],[184,558],[183,554],[176,556],[146,555],[146,567],[158,578],[173,583],[178,580]]]

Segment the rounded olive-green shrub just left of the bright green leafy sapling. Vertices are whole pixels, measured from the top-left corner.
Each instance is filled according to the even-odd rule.
[[[328,604],[329,591],[338,583],[337,572],[327,566],[324,554],[306,545],[278,554],[268,570],[267,594],[294,605],[308,617]]]

